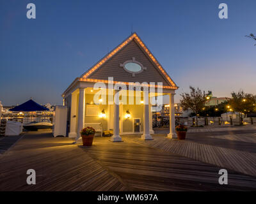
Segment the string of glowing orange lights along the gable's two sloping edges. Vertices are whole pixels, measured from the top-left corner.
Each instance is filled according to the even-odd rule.
[[[140,40],[140,38],[137,36],[136,33],[132,34],[127,40],[124,41],[121,45],[119,45],[117,48],[115,48],[112,52],[110,52],[106,57],[104,57],[99,63],[97,63],[95,66],[93,66],[91,69],[89,69],[88,72],[84,73],[83,78],[89,77],[93,71],[98,69],[104,62],[108,61],[116,52],[119,52],[125,45],[127,45],[130,41],[133,39],[136,39],[136,41],[140,44],[140,46],[143,48],[143,50],[148,54],[150,59],[156,64],[157,68],[161,71],[161,73],[164,75],[164,77],[167,78],[168,82],[172,84],[172,89],[178,89],[177,85],[172,81],[172,79],[168,76],[168,74],[164,71],[162,66],[157,62],[156,58],[151,54],[151,52],[148,50],[146,45]]]

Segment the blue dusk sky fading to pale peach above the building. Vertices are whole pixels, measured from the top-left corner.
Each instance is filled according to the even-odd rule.
[[[28,3],[36,19],[26,17]],[[228,19],[218,5],[228,5]],[[174,82],[230,97],[256,94],[256,1],[0,1],[0,101],[61,104],[61,94],[131,34]]]

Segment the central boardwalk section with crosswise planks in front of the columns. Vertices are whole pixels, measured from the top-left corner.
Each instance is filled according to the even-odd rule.
[[[102,166],[120,177],[132,191],[230,191],[255,190],[255,178],[229,171],[228,186],[218,184],[220,168],[170,152],[141,147],[131,136],[109,143],[97,138],[84,149]],[[154,141],[154,140],[150,140]]]

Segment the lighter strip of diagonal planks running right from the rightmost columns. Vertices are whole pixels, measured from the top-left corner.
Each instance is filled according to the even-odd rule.
[[[205,145],[189,140],[175,140],[166,138],[164,135],[154,135],[154,140],[147,141],[133,136],[132,140],[148,147],[164,150],[164,152],[172,152],[196,161],[256,176],[256,154],[252,152]]]

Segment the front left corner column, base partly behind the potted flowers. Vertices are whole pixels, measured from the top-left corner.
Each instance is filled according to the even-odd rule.
[[[77,114],[77,137],[78,140],[81,135],[80,131],[84,127],[84,88],[79,88],[78,114]]]

